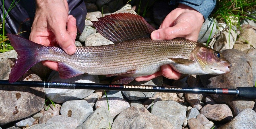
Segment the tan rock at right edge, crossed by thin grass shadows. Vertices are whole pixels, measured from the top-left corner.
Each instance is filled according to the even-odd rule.
[[[252,28],[244,29],[236,40],[234,49],[250,53],[256,48],[256,34]]]

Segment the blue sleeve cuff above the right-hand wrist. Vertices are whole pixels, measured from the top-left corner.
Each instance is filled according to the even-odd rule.
[[[170,4],[182,3],[187,5],[204,16],[207,19],[216,5],[216,0],[171,0]]]

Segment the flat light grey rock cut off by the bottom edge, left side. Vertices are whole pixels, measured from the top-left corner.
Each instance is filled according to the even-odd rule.
[[[36,124],[34,126],[29,127],[29,129],[63,129],[66,128],[65,125],[59,122],[51,123],[51,124]]]

